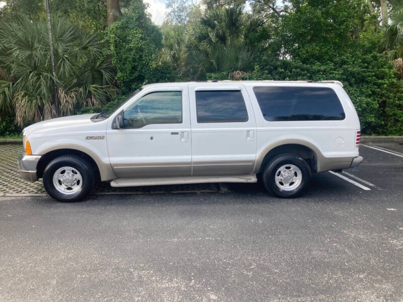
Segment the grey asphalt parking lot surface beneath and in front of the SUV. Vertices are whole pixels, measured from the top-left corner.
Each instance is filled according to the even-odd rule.
[[[403,144],[360,154],[291,200],[259,184],[3,192],[0,301],[403,301]]]

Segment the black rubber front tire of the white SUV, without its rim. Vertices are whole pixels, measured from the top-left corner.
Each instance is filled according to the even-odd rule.
[[[54,173],[62,167],[72,167],[77,170],[82,177],[81,188],[73,194],[63,194],[59,192],[53,184]],[[43,172],[43,186],[46,192],[53,197],[62,202],[75,202],[82,200],[95,185],[95,173],[84,159],[75,156],[60,156],[53,159],[45,168]]]

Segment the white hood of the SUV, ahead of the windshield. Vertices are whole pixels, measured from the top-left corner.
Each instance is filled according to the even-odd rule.
[[[65,128],[65,132],[69,131],[71,128],[82,128],[86,125],[92,125],[94,122],[91,121],[91,117],[94,116],[95,113],[90,114],[81,114],[81,115],[72,115],[65,117],[52,118],[50,120],[38,122],[28,126],[24,129],[24,135],[28,136],[31,133],[35,132],[46,132],[48,130],[58,130],[58,132],[62,131]],[[61,131],[60,131],[61,130]]]

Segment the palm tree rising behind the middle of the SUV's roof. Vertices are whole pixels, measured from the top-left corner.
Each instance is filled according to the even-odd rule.
[[[242,5],[208,12],[192,34],[188,73],[203,79],[207,72],[227,72],[234,78],[253,68],[255,48],[250,34],[265,25],[263,17],[244,13]]]

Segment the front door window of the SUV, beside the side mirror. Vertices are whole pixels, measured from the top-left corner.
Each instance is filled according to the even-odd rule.
[[[182,122],[182,92],[152,92],[124,110],[124,127],[141,128],[150,124]]]

